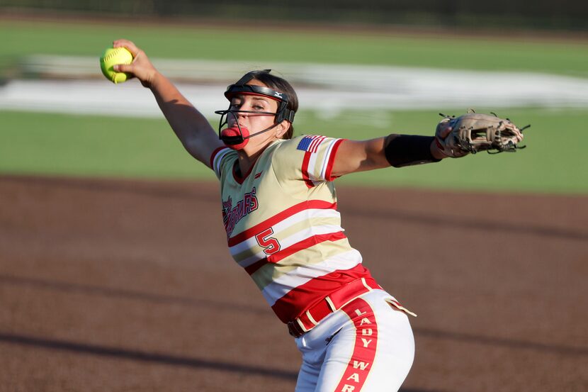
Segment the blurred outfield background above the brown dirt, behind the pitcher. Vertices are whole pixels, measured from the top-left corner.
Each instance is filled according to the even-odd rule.
[[[0,173],[213,180],[183,152],[157,108],[137,106],[142,99],[154,104],[149,91],[135,81],[113,86],[101,76],[101,52],[115,38],[128,38],[182,91],[193,91],[196,106],[203,99],[225,108],[223,88],[251,68],[281,72],[318,97],[301,102],[296,134],[432,135],[439,112],[467,108],[532,125],[528,148],[514,154],[356,174],[341,183],[586,194],[586,3],[539,1],[531,10],[516,1],[437,3],[371,0],[359,9],[350,1],[281,8],[247,1],[0,1]],[[321,65],[322,73],[311,74]],[[353,72],[329,74],[329,65]],[[407,69],[417,81],[437,75],[432,92],[403,102],[402,94],[419,89],[402,84]],[[388,95],[374,102],[384,105],[364,98],[382,93],[377,85],[354,79],[378,84],[376,71],[400,81],[382,77]],[[507,82],[495,85],[504,99],[485,100],[484,89],[501,75]],[[465,86],[457,85],[460,76]],[[216,96],[198,94],[210,87]],[[477,96],[460,96],[477,88]],[[396,99],[386,106],[390,91]],[[14,96],[30,101],[19,106]],[[41,96],[52,105],[41,105]],[[333,101],[339,106],[327,104]]]

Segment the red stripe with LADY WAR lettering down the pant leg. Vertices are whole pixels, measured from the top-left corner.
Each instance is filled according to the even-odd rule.
[[[366,301],[357,298],[341,308],[354,322],[356,340],[354,353],[335,392],[359,392],[366,382],[378,346],[378,325],[375,315]]]

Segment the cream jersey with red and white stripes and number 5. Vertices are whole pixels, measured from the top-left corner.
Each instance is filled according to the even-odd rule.
[[[249,173],[237,152],[210,157],[234,260],[284,323],[356,279],[370,276],[337,211],[332,167],[341,139],[300,136],[269,145]]]

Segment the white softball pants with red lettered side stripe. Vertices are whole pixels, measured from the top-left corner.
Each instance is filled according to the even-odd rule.
[[[408,317],[373,290],[295,339],[303,355],[295,392],[398,391],[412,366]]]

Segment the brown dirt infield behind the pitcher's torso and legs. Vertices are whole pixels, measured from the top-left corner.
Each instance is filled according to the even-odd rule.
[[[588,391],[588,196],[338,191],[419,314],[402,391]],[[0,391],[293,391],[216,184],[3,176],[0,203]]]

